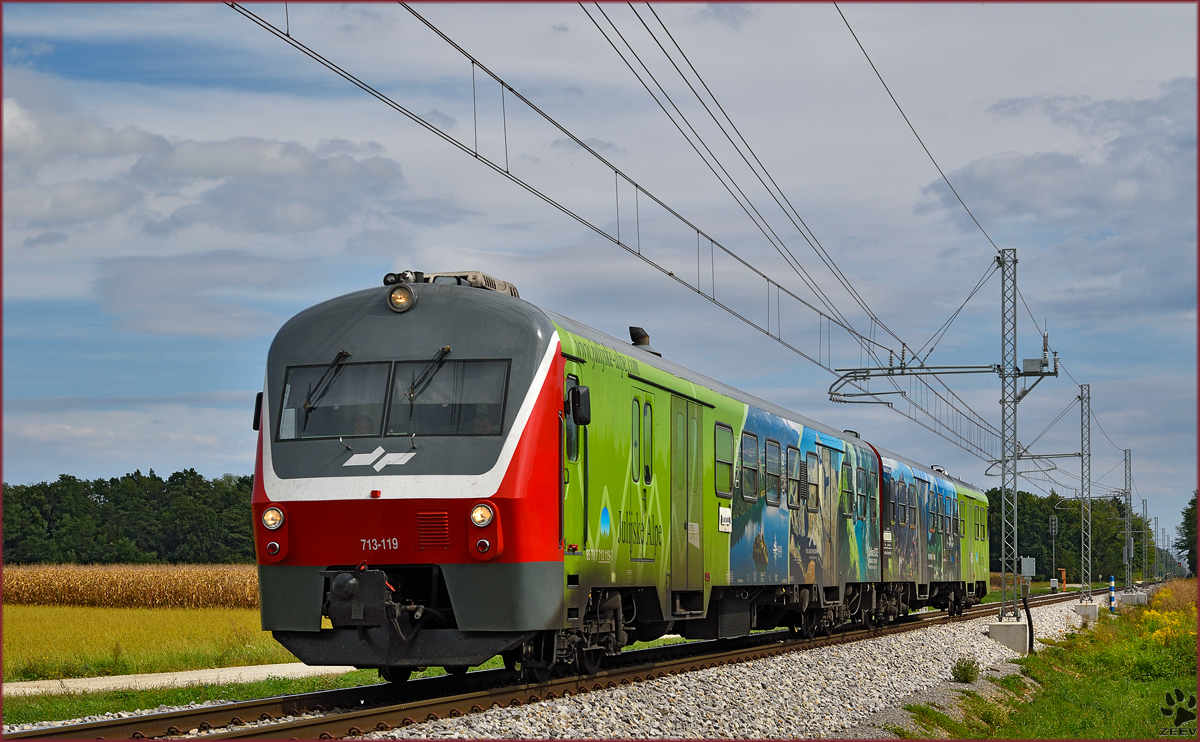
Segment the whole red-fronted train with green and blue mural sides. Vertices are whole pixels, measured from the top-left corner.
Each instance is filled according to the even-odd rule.
[[[254,409],[262,627],[311,665],[530,682],[667,633],[988,591],[978,489],[521,299],[388,274],[286,322]]]

